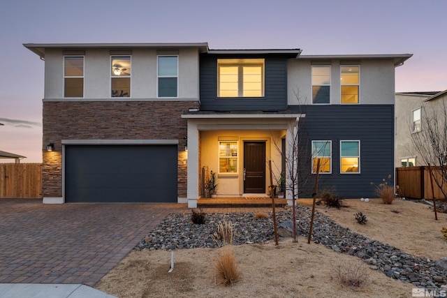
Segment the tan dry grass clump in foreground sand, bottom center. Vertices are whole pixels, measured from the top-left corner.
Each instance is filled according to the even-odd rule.
[[[233,249],[226,248],[222,253],[219,253],[219,257],[216,259],[215,270],[216,284],[234,285],[240,278],[240,271],[236,264]]]

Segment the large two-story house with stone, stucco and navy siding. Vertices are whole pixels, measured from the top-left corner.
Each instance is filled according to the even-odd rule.
[[[274,177],[286,172],[297,123],[309,161],[300,198],[312,198],[316,158],[319,188],[344,198],[373,196],[370,183],[394,173],[395,67],[411,54],[24,46],[45,59],[44,202],[196,207],[205,167],[220,197],[264,196],[267,161]]]

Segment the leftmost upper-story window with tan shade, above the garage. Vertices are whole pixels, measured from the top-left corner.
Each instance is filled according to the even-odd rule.
[[[64,57],[64,98],[84,97],[84,57]]]

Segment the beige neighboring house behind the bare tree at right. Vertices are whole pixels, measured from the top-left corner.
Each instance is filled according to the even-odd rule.
[[[446,91],[406,92],[396,94],[395,166],[425,165],[411,140],[411,134],[424,129],[425,115],[447,104]]]

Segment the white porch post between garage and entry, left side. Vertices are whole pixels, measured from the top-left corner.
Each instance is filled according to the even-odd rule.
[[[198,168],[198,128],[192,119],[188,120],[188,184],[186,198],[188,208],[197,208],[199,188]]]

